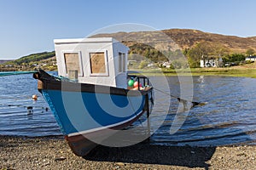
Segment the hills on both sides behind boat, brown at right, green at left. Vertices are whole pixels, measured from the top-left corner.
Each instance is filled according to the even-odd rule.
[[[256,52],[256,37],[226,36],[189,29],[116,32],[97,34],[92,37],[113,37],[119,42],[125,43],[130,48],[131,54],[139,54],[129,55],[131,60],[137,59],[140,61],[144,59],[142,56],[145,56],[154,62],[159,62],[165,61],[165,55],[176,56],[175,59],[178,59],[180,54],[186,52],[188,58],[190,54],[190,66],[198,66],[202,54],[228,56],[229,54],[246,54],[249,49],[253,53]],[[201,45],[201,48],[198,48],[200,43],[204,44]],[[194,48],[197,48],[197,51],[193,50]],[[195,62],[196,64],[194,64]],[[10,65],[10,67],[6,67],[6,65]],[[55,70],[55,52],[30,54],[0,64],[0,71],[32,70],[38,66],[46,70]]]

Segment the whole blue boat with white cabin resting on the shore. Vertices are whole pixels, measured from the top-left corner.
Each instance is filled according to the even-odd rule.
[[[58,76],[38,70],[38,91],[67,144],[85,156],[113,133],[131,126],[154,105],[148,77],[129,75],[129,48],[112,37],[57,39]]]

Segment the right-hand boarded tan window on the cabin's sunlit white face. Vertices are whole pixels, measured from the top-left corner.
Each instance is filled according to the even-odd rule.
[[[90,75],[108,76],[107,56],[104,52],[90,53]]]

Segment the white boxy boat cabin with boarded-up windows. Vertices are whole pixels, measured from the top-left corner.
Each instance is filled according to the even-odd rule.
[[[129,48],[112,37],[55,39],[58,74],[81,83],[127,88]]]

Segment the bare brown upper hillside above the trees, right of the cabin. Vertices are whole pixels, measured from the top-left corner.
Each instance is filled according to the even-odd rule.
[[[206,41],[223,45],[231,53],[245,53],[248,48],[253,48],[256,51],[256,37],[225,36],[189,29],[117,32],[112,34],[98,34],[92,37],[114,37],[121,42],[125,42],[128,46],[133,45],[135,42],[143,42],[152,45],[154,48],[168,48],[171,50],[179,47],[182,49],[192,48],[197,42]]]

